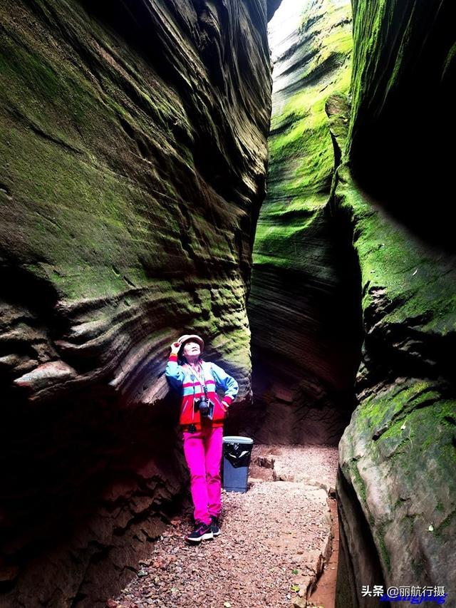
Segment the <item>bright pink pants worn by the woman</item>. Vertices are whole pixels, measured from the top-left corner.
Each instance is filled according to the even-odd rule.
[[[203,425],[201,431],[184,431],[184,453],[190,469],[190,489],[195,506],[195,521],[209,524],[211,516],[222,510],[220,462],[223,427]]]

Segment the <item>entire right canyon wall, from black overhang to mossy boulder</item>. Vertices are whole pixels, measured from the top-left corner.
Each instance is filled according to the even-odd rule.
[[[454,607],[454,193],[451,127],[436,129],[433,115],[451,104],[451,8],[354,8],[348,158],[357,181],[341,165],[333,208],[353,230],[365,341],[359,405],[340,444],[338,606],[373,606],[361,586],[384,583],[445,586]]]

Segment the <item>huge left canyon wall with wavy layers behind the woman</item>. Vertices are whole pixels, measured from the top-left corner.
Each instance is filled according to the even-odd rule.
[[[2,605],[96,606],[160,533],[175,336],[249,397],[266,8],[1,4]]]

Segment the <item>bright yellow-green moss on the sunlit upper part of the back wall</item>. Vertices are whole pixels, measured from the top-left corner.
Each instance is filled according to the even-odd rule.
[[[318,216],[328,202],[334,156],[325,105],[335,91],[348,92],[351,29],[348,4],[323,3],[320,11],[304,10],[294,33],[294,54],[276,64],[268,194],[259,216],[254,265],[302,267],[306,239],[299,227],[308,230],[312,215]],[[287,61],[294,71],[281,76]]]

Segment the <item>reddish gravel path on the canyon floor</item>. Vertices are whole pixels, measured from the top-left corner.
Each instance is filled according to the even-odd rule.
[[[188,546],[190,522],[172,520],[108,608],[306,607],[331,553],[337,459],[336,448],[254,446],[249,491],[223,495],[222,534]]]

